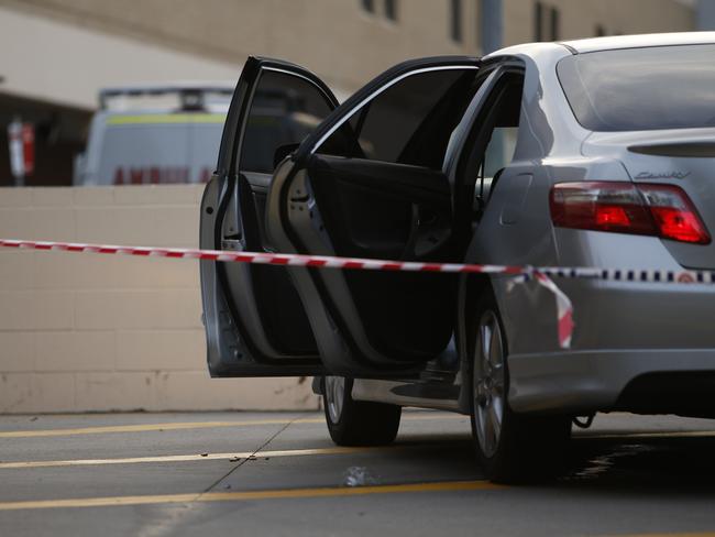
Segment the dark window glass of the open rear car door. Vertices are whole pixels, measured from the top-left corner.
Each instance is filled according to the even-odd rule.
[[[476,69],[419,73],[396,83],[317,153],[441,168],[454,128],[476,91]]]

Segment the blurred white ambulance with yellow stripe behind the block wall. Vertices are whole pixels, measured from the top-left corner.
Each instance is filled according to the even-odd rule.
[[[229,84],[101,90],[75,185],[207,183],[232,94]]]

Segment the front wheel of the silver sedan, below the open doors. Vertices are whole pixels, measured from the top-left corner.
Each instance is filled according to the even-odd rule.
[[[338,446],[385,446],[397,436],[403,408],[354,401],[352,379],[323,377],[323,409],[330,438]]]

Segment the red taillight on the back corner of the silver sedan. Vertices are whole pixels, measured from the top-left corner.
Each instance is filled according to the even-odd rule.
[[[551,188],[551,219],[562,228],[614,231],[708,244],[711,237],[688,195],[673,185],[560,183]]]

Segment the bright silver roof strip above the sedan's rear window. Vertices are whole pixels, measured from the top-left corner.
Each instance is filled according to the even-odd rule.
[[[715,43],[715,32],[676,32],[640,35],[613,35],[587,40],[562,41],[574,53],[641,48],[647,46],[697,45]]]

